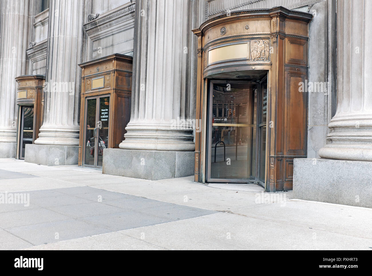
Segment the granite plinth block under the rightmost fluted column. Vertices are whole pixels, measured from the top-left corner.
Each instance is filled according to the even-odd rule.
[[[293,197],[372,208],[372,162],[294,159]]]

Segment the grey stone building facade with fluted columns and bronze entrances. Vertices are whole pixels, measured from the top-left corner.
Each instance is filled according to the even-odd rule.
[[[214,163],[213,156],[220,160],[224,156],[222,161],[228,163],[229,160],[225,160],[225,153],[222,152],[225,150],[227,158],[231,157],[236,161],[232,162],[236,165],[234,168],[246,166],[249,159],[250,166],[256,166],[259,172],[259,165],[254,164],[261,163],[263,178],[259,179],[252,172],[247,175],[245,171],[243,176],[235,176],[235,178],[223,176],[222,173],[217,181],[234,182],[238,179],[235,182],[253,182],[264,186],[266,191],[270,192],[292,189],[293,183],[296,198],[372,207],[369,200],[372,195],[370,180],[372,118],[371,101],[369,101],[371,91],[368,87],[368,68],[371,66],[368,62],[370,56],[368,39],[371,38],[368,32],[369,21],[366,20],[366,15],[372,9],[369,2],[368,0],[1,1],[0,157],[24,158],[25,162],[43,165],[78,163],[88,165],[85,158],[90,156],[94,160],[93,166],[102,168],[103,173],[151,180],[195,175],[196,181],[208,182],[210,179],[208,168]],[[262,17],[263,21],[254,21],[256,15]],[[212,28],[214,24],[221,24],[221,22],[225,24],[224,22],[229,22],[229,18],[235,20],[238,17],[239,20],[251,20],[247,21],[249,24],[242,25],[241,30],[237,27],[238,33],[231,33],[234,28],[219,27],[218,37],[213,38],[215,42],[208,44],[199,41],[202,37],[206,39],[205,41],[209,39],[209,35],[208,38],[204,38],[204,30]],[[267,21],[269,30],[259,26],[267,18],[271,20]],[[293,23],[297,22],[296,20],[300,23]],[[231,38],[230,42],[227,37]],[[303,75],[306,76],[302,84],[302,88],[306,90],[306,94],[302,94],[305,95],[305,101],[299,107],[303,108],[305,114],[303,117],[305,132],[301,132],[299,134],[301,137],[298,138],[302,142],[305,141],[304,145],[299,146],[303,154],[298,155],[301,158],[296,158],[298,149],[294,149],[293,155],[282,156],[270,153],[270,148],[267,148],[263,153],[257,153],[257,159],[254,159],[256,157],[252,157],[249,148],[253,149],[259,141],[267,147],[273,145],[269,141],[278,139],[276,133],[279,133],[282,128],[280,122],[284,121],[284,117],[275,118],[270,113],[270,105],[266,103],[271,100],[270,104],[274,104],[273,95],[279,89],[267,74],[275,72],[272,71],[275,65],[272,51],[279,49],[276,48],[275,43],[278,43],[282,37],[286,38],[285,41],[291,39],[291,41],[296,39],[304,41],[301,42],[302,44],[292,43],[292,46],[285,48],[288,49],[285,51],[293,50],[293,55],[297,55],[301,50],[303,57],[292,58],[294,62],[292,65],[291,60],[283,64],[285,68],[304,72]],[[221,44],[226,41],[228,43],[223,45],[226,47],[237,45],[239,39],[247,41],[247,45],[250,45],[247,57],[220,56],[216,59],[216,64],[212,62],[209,65],[207,60],[208,64],[204,67],[199,63],[206,60],[202,43],[207,48],[209,45],[213,46],[213,43]],[[257,44],[253,44],[256,40]],[[257,52],[255,52],[256,56],[253,55],[253,45],[259,48],[262,45],[259,56]],[[298,45],[306,46],[300,49]],[[213,49],[212,47],[211,51]],[[221,47],[221,49],[229,48]],[[209,57],[212,55],[211,51]],[[286,53],[276,53],[279,58],[278,64],[280,64],[280,56],[285,56]],[[115,56],[115,54],[119,55]],[[226,51],[224,55],[230,56],[231,52]],[[123,58],[127,61],[132,58],[132,65],[128,65],[130,68],[119,66]],[[297,66],[296,62],[300,62],[302,58],[306,64]],[[247,68],[243,69],[244,72],[238,72],[238,69],[235,73],[231,71],[234,59],[240,62],[239,66],[246,62]],[[244,59],[246,61],[242,63]],[[221,60],[226,62],[221,63]],[[87,82],[99,80],[99,74],[105,70],[105,66],[107,70],[110,69],[107,68],[108,61],[112,61],[115,68],[105,74],[110,75],[112,79],[115,78],[115,85],[118,86],[110,87],[114,84],[111,82],[106,87],[103,82],[102,87],[97,86],[97,89],[111,88],[112,93],[116,93],[120,82],[124,82],[127,78],[130,82],[127,94],[131,93],[131,102],[125,107],[125,112],[130,114],[130,120],[129,117],[128,121],[123,119],[123,124],[124,121],[126,124],[125,130],[124,127],[122,130],[125,133],[124,137],[121,143],[112,144],[107,136],[106,140],[105,137],[102,136],[101,139],[96,134],[96,131],[102,131],[102,127],[87,124],[89,114],[84,113],[88,110],[86,100],[88,101],[89,97],[98,97],[98,94],[93,93],[92,87],[91,90],[87,90]],[[215,67],[220,68],[219,71],[216,69],[212,77],[205,77],[206,72],[211,71],[208,68],[214,68],[215,65],[220,66]],[[269,65],[272,67],[265,67]],[[86,77],[89,75],[88,72],[84,74],[82,72],[85,68],[91,68],[89,70],[92,71],[93,66],[97,68],[97,72],[90,73],[96,74],[97,77],[88,79]],[[241,67],[239,68],[241,70]],[[259,71],[257,68],[262,70]],[[227,73],[223,75],[222,72]],[[132,75],[128,75],[129,73]],[[122,77],[118,78],[120,74]],[[265,74],[267,88],[262,86],[265,82]],[[243,78],[239,78],[242,76]],[[266,94],[262,94],[262,97],[257,99],[263,103],[264,109],[268,108],[267,118],[271,119],[261,125],[253,123],[239,125],[239,114],[246,112],[242,111],[242,108],[246,107],[243,105],[236,107],[237,103],[236,101],[233,103],[233,96],[231,96],[231,103],[230,100],[225,103],[226,107],[221,105],[222,109],[221,107],[216,109],[218,114],[213,113],[212,107],[209,111],[207,100],[211,100],[209,94],[212,97],[213,93],[212,90],[208,90],[208,79],[212,81],[230,79],[233,80],[231,83],[242,80],[250,83],[251,86],[247,90],[239,90],[241,84],[237,84],[237,88],[234,88],[236,93],[266,89]],[[302,89],[299,83],[298,88]],[[287,91],[289,88],[283,89]],[[297,88],[293,87],[293,89]],[[91,91],[93,94],[88,93],[87,97],[83,98],[82,91]],[[198,94],[198,91],[201,93]],[[112,104],[114,94],[110,95],[110,108],[119,108],[118,104]],[[108,101],[106,103],[108,104]],[[291,101],[288,103],[298,104]],[[230,105],[232,108],[228,107]],[[28,109],[30,107],[35,108],[31,119],[34,123],[25,127],[27,120],[31,118],[27,117],[30,116],[31,111]],[[102,108],[97,107],[96,110],[101,112]],[[201,110],[200,112],[205,116],[199,114],[198,110]],[[219,117],[225,117],[226,120],[228,118],[230,124],[220,127],[218,132],[218,127],[214,129],[214,124],[218,125],[215,120]],[[124,117],[119,116],[119,118]],[[199,118],[203,120],[198,121]],[[36,120],[40,122],[39,127]],[[291,135],[297,137],[298,126],[291,124],[291,119],[288,120],[289,138],[283,134],[283,139],[290,140]],[[99,122],[102,123],[102,120]],[[217,131],[213,132],[214,137],[224,142],[223,147],[222,143],[217,145],[217,140],[211,142],[212,132],[208,130],[209,125],[211,131]],[[202,132],[199,132],[198,126],[204,126],[205,136],[200,134]],[[242,133],[246,133],[241,131],[242,127],[252,127],[253,133],[256,133],[260,127],[272,128],[272,130],[270,132],[267,129],[264,132],[271,134],[260,134],[261,136],[257,134],[257,137],[261,137],[257,138],[258,140],[253,140],[252,136],[248,142],[248,136],[242,137]],[[113,131],[118,126],[110,123],[108,128]],[[30,135],[31,129],[33,136],[27,136]],[[268,135],[271,135],[271,138]],[[202,139],[201,137],[205,140],[209,139],[210,145],[208,141],[204,141],[205,147],[199,149],[198,141]],[[96,139],[95,144],[99,146],[94,147],[92,138]],[[296,143],[294,145],[296,146]],[[101,147],[102,151],[98,149]],[[239,150],[244,154],[240,154]],[[248,156],[249,154],[251,156]],[[97,160],[101,160],[102,163],[99,165]],[[282,160],[284,165],[278,165]],[[223,162],[219,165],[224,165]],[[233,171],[231,168],[226,167],[218,171]]]

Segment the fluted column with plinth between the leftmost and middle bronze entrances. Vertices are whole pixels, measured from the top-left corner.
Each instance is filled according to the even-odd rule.
[[[50,2],[44,121],[36,145],[26,146],[26,162],[77,164],[83,6],[80,0]],[[37,156],[41,149],[47,159]]]

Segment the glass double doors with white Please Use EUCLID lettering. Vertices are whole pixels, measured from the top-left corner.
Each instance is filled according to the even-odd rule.
[[[86,99],[84,166],[102,168],[103,149],[109,140],[109,108],[108,95]]]

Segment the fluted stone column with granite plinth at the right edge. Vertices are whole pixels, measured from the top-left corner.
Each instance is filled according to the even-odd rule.
[[[336,114],[321,158],[294,159],[294,198],[372,208],[371,13],[372,1],[337,0]]]

